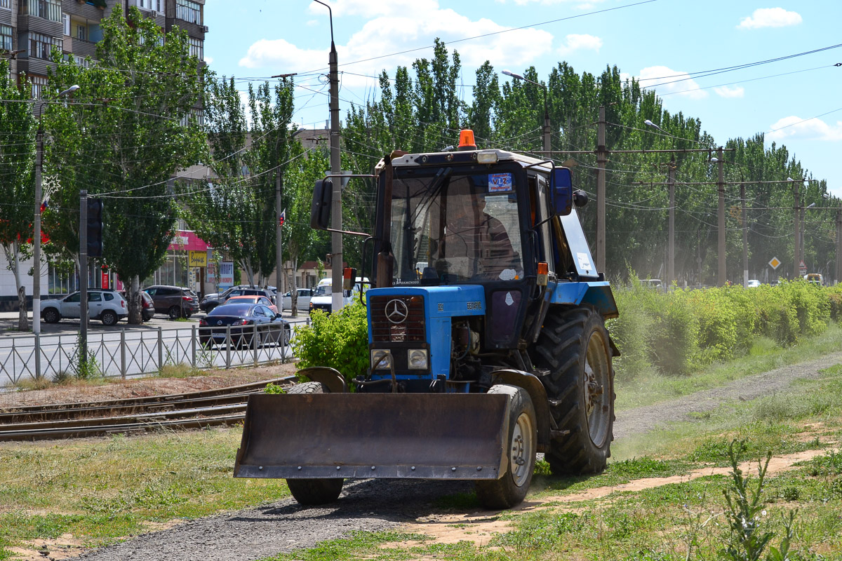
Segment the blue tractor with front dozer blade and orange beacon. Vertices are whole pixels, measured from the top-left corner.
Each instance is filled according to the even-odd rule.
[[[251,396],[235,476],[285,478],[305,505],[349,478],[473,479],[498,509],[524,499],[536,453],[554,474],[605,468],[617,309],[576,212],[587,195],[569,169],[469,133],[377,165],[370,369],[354,392],[307,368],[288,394]],[[316,228],[332,189],[317,182]]]

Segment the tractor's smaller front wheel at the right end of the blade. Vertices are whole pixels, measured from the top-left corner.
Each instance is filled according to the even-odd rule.
[[[477,499],[487,509],[507,509],[519,505],[529,490],[535,471],[538,423],[535,405],[525,389],[498,384],[488,389],[488,393],[509,396],[509,434],[504,444],[509,461],[500,479],[477,481]]]

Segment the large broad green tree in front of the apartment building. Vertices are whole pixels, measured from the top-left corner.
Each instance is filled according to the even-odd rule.
[[[61,181],[54,228],[65,246],[78,246],[71,225],[78,192],[104,198],[104,256],[129,290],[129,322],[141,323],[140,281],[161,265],[173,238],[178,207],[170,178],[206,151],[198,124],[200,61],[187,34],[167,34],[137,8],[120,5],[103,19],[98,62],[77,65],[54,53],[51,84],[78,84],[76,103],[51,105],[46,114],[59,139],[48,152]],[[84,272],[82,272],[85,274]]]

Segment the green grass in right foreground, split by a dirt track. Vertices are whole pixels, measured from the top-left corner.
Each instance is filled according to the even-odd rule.
[[[745,439],[743,460],[832,446],[842,431],[842,365],[827,368],[819,379],[803,380],[790,393],[753,402],[736,402],[711,411],[705,425],[682,423],[647,437],[646,455],[615,459],[603,474],[553,478],[539,462],[528,499],[617,485],[633,479],[686,474],[702,463],[729,465],[728,444]],[[820,424],[826,434],[804,437],[807,423]],[[614,458],[622,458],[614,453]],[[627,451],[627,448],[626,448]],[[749,474],[756,479],[756,469]],[[537,489],[536,489],[537,488]],[[532,561],[554,558],[678,561],[721,559],[727,539],[723,491],[731,479],[713,475],[642,491],[618,491],[600,500],[557,505],[534,512],[508,511],[496,516],[514,524],[482,546],[472,542],[439,544],[433,538],[405,537],[388,532],[355,533],[272,558],[382,559],[444,558],[460,561]],[[759,531],[773,532],[775,547],[784,532],[784,516],[794,508],[797,559],[842,559],[842,454],[828,451],[797,468],[766,479]],[[443,510],[476,509],[473,494],[437,501]],[[552,505],[550,505],[552,506]],[[570,509],[573,508],[573,511]],[[412,540],[413,543],[402,543]]]

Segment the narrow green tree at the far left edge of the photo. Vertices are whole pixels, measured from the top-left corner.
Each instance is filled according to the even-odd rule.
[[[32,237],[35,209],[35,119],[29,82],[14,83],[8,61],[0,59],[0,244],[18,292],[18,329],[26,331],[26,288],[20,257]],[[40,274],[35,263],[34,274]],[[34,314],[39,310],[33,310]]]

